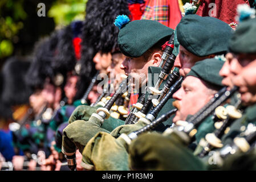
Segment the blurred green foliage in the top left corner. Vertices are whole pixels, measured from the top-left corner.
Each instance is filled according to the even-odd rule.
[[[0,0],[0,67],[9,56],[31,53],[35,42],[55,28],[83,20],[87,1]],[[37,14],[39,3],[46,7],[44,17]]]

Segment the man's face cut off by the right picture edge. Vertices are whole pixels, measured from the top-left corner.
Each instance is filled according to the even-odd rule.
[[[233,55],[233,61],[237,61],[239,72],[231,77],[231,82],[239,86],[241,100],[244,105],[255,104],[256,102],[256,54]],[[235,69],[235,68],[234,68]]]

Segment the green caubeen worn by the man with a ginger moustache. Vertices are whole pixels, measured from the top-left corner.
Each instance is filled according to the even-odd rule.
[[[205,59],[198,61],[186,76],[194,76],[208,82],[214,86],[224,86],[221,84],[223,77],[219,72],[224,65],[224,61],[218,59]]]

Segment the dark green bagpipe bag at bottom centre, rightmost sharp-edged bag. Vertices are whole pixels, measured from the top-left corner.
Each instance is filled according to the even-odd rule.
[[[129,147],[129,168],[133,170],[206,170],[200,159],[178,138],[158,133],[142,134]]]

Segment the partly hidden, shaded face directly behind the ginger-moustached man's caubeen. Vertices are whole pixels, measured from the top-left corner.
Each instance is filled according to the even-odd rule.
[[[207,57],[208,56],[198,57],[180,45],[180,50],[174,62],[174,67],[179,68],[180,75],[185,77],[197,61],[204,60]]]

